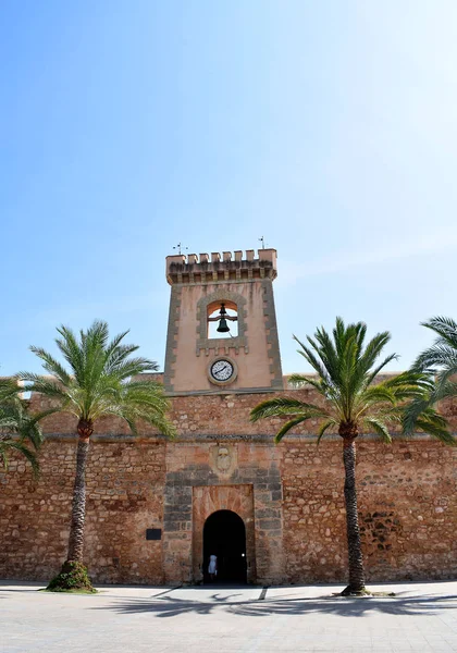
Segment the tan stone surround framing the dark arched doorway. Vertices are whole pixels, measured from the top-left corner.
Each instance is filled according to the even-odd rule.
[[[220,510],[235,513],[246,529],[246,581],[255,583],[256,544],[252,485],[205,485],[193,489],[193,577],[203,581],[203,530],[207,519]],[[243,552],[239,552],[243,553]]]

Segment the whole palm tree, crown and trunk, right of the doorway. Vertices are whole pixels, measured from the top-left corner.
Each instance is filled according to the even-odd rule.
[[[356,492],[356,439],[362,432],[374,432],[384,442],[392,442],[388,426],[402,422],[402,403],[421,397],[431,390],[427,374],[404,372],[376,382],[378,374],[396,356],[378,361],[390,341],[388,332],[379,333],[365,345],[367,326],[362,322],[344,324],[336,319],[333,338],[318,329],[314,338],[307,337],[309,346],[298,338],[298,350],[317,372],[317,377],[294,374],[291,382],[300,387],[310,385],[325,401],[322,405],[301,402],[293,397],[276,397],[256,406],[250,419],[285,416],[287,421],[275,436],[283,436],[301,422],[319,419],[318,444],[329,429],[335,429],[343,439],[345,469],[344,497],[346,505],[347,547],[349,557],[349,584],[343,595],[366,593],[363,558],[357,514]],[[440,440],[454,443],[446,431],[445,421],[432,408],[417,420],[417,428]]]

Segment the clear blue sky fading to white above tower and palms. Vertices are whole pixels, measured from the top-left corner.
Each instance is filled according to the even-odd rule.
[[[1,7],[0,373],[95,318],[163,366],[164,258],[279,252],[292,334],[457,318],[454,0]]]

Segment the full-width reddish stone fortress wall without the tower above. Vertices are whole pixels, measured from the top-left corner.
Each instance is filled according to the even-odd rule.
[[[85,544],[95,581],[198,582],[202,527],[217,509],[233,509],[245,521],[252,582],[345,579],[341,440],[331,436],[317,447],[311,423],[274,446],[281,420],[248,420],[267,397],[174,397],[178,438],[172,443],[148,428],[133,439],[113,419],[97,423]],[[34,397],[32,406],[45,404]],[[443,410],[456,430],[457,403]],[[38,481],[21,458],[0,475],[3,578],[48,580],[65,557],[74,426],[66,416],[48,418]],[[357,456],[369,580],[455,578],[457,451],[423,435],[393,445],[360,436]],[[150,528],[161,529],[162,539],[146,540]]]

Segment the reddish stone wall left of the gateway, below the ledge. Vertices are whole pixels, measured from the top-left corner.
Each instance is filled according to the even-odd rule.
[[[75,441],[48,441],[34,481],[22,461],[2,473],[0,575],[49,579],[65,558]],[[163,582],[163,442],[92,442],[87,465],[85,559],[98,582]]]

